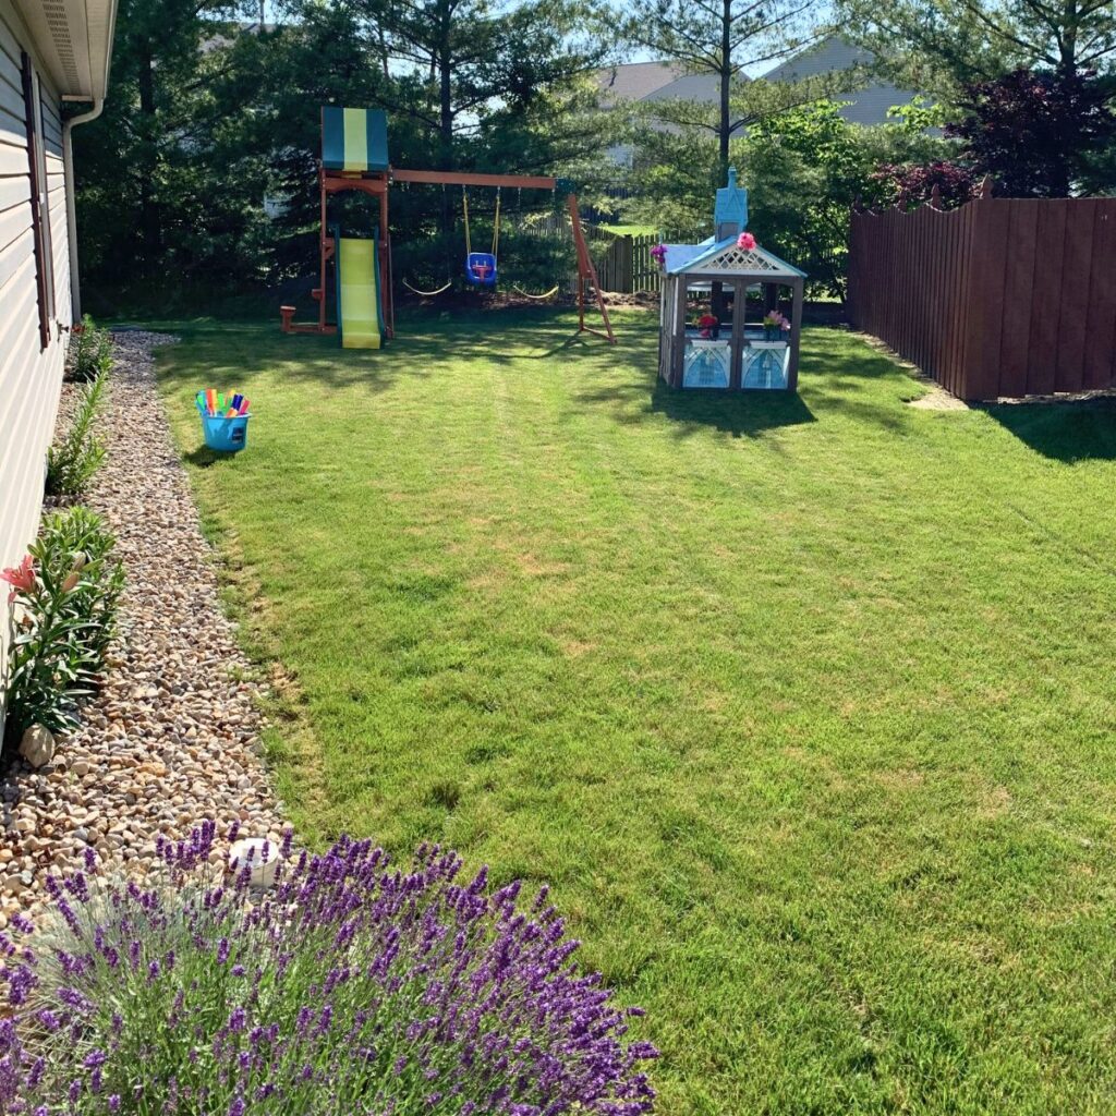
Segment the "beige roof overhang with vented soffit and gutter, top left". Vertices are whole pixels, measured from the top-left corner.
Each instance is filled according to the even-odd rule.
[[[12,0],[51,83],[66,100],[103,100],[116,0]]]

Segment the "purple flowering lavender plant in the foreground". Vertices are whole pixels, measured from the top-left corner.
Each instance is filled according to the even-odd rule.
[[[369,841],[205,881],[214,827],[162,886],[55,881],[42,944],[0,935],[0,1112],[20,1116],[637,1116],[654,1094],[618,1008],[543,889]],[[285,854],[289,854],[289,838]],[[286,865],[289,865],[287,867]],[[51,936],[52,935],[52,936]],[[31,949],[36,944],[37,949]]]

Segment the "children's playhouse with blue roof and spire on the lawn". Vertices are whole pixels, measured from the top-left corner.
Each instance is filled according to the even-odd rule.
[[[664,244],[658,373],[672,387],[724,391],[798,386],[806,275],[747,232],[748,191],[729,171],[716,192],[714,233],[700,244]],[[749,321],[749,290],[759,288]],[[778,310],[790,292],[791,312]]]

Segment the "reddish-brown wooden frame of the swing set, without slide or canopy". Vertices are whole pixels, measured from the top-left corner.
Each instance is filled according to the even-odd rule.
[[[420,182],[435,185],[449,186],[509,186],[519,190],[555,190],[557,179],[545,175],[528,174],[480,174],[470,172],[453,171],[329,171],[318,165],[318,185],[321,195],[321,232],[319,237],[319,268],[320,282],[311,291],[312,297],[318,302],[318,320],[315,324],[296,323],[295,307],[281,306],[279,316],[285,334],[336,334],[337,326],[326,321],[326,268],[330,260],[335,259],[337,246],[329,233],[328,217],[326,213],[326,201],[330,194],[340,193],[346,190],[355,190],[379,199],[379,273],[382,276],[382,298],[384,328],[388,338],[395,336],[395,306],[392,282],[392,239],[387,225],[387,192],[393,182]],[[581,219],[577,212],[577,195],[569,194],[566,198],[566,205],[569,209],[570,224],[574,230],[574,246],[577,249],[577,330],[578,333],[594,334],[605,338],[609,344],[616,344],[616,335],[613,333],[612,321],[608,319],[608,309],[605,306],[604,297],[600,294],[600,285],[597,281],[597,269],[594,267],[593,257],[589,254],[588,246],[585,242],[585,232],[581,229]],[[585,285],[593,288],[593,296],[600,311],[602,320],[605,324],[604,330],[594,329],[585,324]]]

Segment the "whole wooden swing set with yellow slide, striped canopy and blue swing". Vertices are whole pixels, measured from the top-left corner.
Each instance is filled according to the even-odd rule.
[[[475,287],[492,288],[498,278],[500,241],[500,194],[503,186],[519,190],[558,189],[558,180],[543,175],[480,174],[454,171],[403,171],[391,165],[387,152],[387,117],[381,109],[339,108],[321,109],[321,160],[318,164],[320,187],[321,232],[319,238],[320,282],[311,292],[318,302],[318,320],[314,324],[295,321],[296,308],[279,309],[283,333],[338,334],[345,348],[379,348],[394,336],[394,306],[392,300],[392,243],[388,233],[388,191],[396,182],[434,183],[462,187],[462,206],[465,219],[465,278]],[[474,252],[469,234],[469,187],[489,186],[497,190],[496,221],[489,252]],[[371,239],[341,237],[340,229],[328,223],[328,199],[341,191],[358,191],[379,200],[379,222],[372,230]],[[574,243],[577,249],[577,299],[579,331],[597,334],[612,344],[616,343],[608,310],[597,282],[596,268],[589,257],[578,217],[577,198],[567,198]],[[333,264],[336,291],[336,317],[327,316],[327,271]],[[415,290],[404,283],[410,290]],[[436,291],[416,291],[437,295]],[[591,290],[604,329],[586,325],[586,287]],[[549,297],[554,291],[546,296]]]

